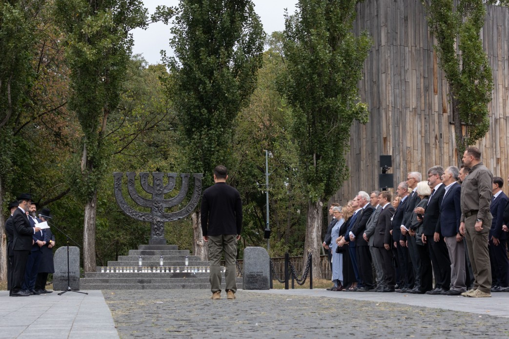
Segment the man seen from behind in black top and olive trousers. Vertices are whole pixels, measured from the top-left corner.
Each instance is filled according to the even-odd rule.
[[[242,201],[239,192],[226,183],[228,170],[219,165],[214,168],[215,184],[203,192],[202,232],[209,244],[210,285],[212,299],[221,299],[221,252],[226,262],[226,291],[228,299],[235,299],[237,284],[237,241],[242,231]]]

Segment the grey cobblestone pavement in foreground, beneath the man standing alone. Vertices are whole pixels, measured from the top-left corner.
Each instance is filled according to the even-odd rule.
[[[327,294],[328,293],[328,294]],[[306,295],[307,294],[307,295]],[[390,294],[370,293],[373,300],[353,300],[363,293],[325,290],[237,291],[236,300],[211,300],[207,290],[103,291],[121,338],[319,338],[355,336],[451,338],[508,336],[506,318],[380,301]],[[348,296],[347,296],[348,295]],[[396,296],[398,295],[398,296]],[[408,297],[408,296],[407,296]],[[410,296],[412,298],[416,296]],[[424,300],[472,305],[503,302],[507,298],[425,296]],[[440,299],[438,299],[440,298]],[[484,300],[479,300],[484,299]],[[460,301],[461,299],[457,299]],[[483,309],[483,307],[480,307]]]

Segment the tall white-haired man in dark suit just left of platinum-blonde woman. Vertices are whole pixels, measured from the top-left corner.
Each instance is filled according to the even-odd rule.
[[[420,202],[419,195],[416,192],[417,184],[421,181],[422,176],[418,172],[410,172],[407,175],[407,185],[412,189],[412,192],[408,196],[408,203],[405,208],[405,213],[403,214],[403,220],[401,222],[400,230],[401,234],[406,237],[406,245],[408,248],[408,256],[410,257],[410,263],[407,267],[407,277],[410,283],[410,287],[413,283],[413,288],[411,289],[413,292],[410,293],[419,293],[421,291],[421,260],[419,256],[419,250],[417,248],[417,244],[415,243],[415,237],[408,234],[408,230],[410,230],[414,209],[417,207],[417,204]],[[409,288],[410,288],[409,287]],[[408,292],[403,291],[403,292]]]

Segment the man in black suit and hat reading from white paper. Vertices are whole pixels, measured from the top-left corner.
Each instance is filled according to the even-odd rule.
[[[13,297],[26,297],[31,295],[29,291],[22,289],[22,284],[25,277],[26,261],[32,250],[34,244],[33,236],[41,229],[38,227],[31,227],[29,218],[26,216],[25,211],[30,207],[32,196],[27,193],[22,193],[18,197],[18,208],[12,215],[14,225],[14,240],[13,240],[13,276],[11,286],[11,296]]]

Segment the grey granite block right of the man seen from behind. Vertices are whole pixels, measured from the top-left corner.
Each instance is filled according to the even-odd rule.
[[[270,258],[263,247],[244,249],[244,290],[270,289]]]

